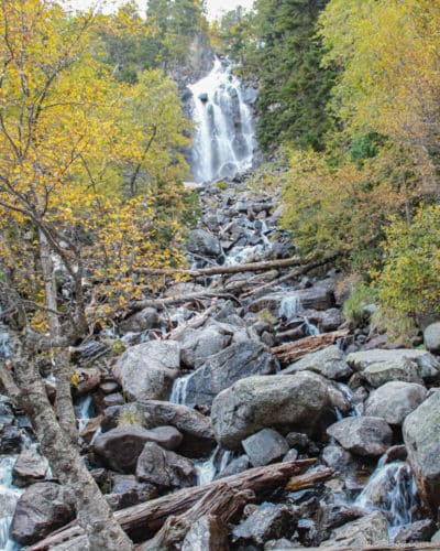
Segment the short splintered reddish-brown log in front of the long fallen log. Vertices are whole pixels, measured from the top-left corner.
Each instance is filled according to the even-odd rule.
[[[223,484],[211,488],[190,509],[178,517],[168,517],[156,536],[142,545],[142,551],[172,551],[175,543],[184,540],[194,522],[205,515],[213,515],[220,521],[228,522],[237,516],[249,501],[255,499],[250,490],[237,491]]]

